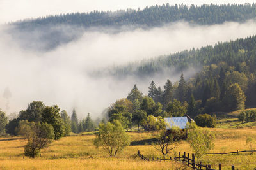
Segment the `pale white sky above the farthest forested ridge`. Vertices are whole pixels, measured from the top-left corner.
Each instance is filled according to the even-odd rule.
[[[0,24],[26,18],[57,15],[60,13],[90,12],[93,10],[143,9],[155,4],[223,4],[253,3],[252,0],[0,0]]]

